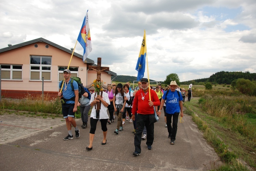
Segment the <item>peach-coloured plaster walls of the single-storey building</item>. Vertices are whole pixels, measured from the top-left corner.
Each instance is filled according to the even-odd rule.
[[[38,47],[35,48],[34,45]],[[49,48],[45,48],[48,45]],[[52,56],[51,81],[44,81],[44,91],[58,91],[59,66],[67,67],[70,62],[71,54],[60,50],[45,42],[36,42],[27,46],[22,46],[13,50],[0,53],[0,64],[22,65],[22,80],[2,80],[2,90],[20,90],[20,91],[42,91],[42,81],[30,81],[30,55]],[[89,64],[88,64],[89,65]],[[96,71],[88,71],[87,64],[83,63],[80,57],[74,56],[71,59],[70,67],[78,67],[78,75],[84,85],[90,84],[97,78]],[[111,83],[111,75],[107,72],[101,73],[101,78],[106,84]],[[72,75],[71,73],[71,76]]]

